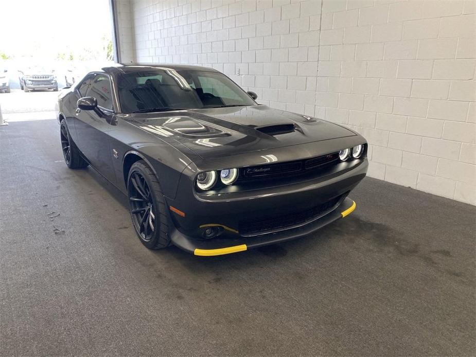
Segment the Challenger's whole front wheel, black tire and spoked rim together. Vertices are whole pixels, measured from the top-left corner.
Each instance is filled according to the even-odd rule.
[[[127,189],[132,224],[140,242],[149,249],[169,246],[164,194],[154,172],[143,160],[132,165]]]

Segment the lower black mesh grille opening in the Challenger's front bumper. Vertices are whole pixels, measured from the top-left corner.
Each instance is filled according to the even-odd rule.
[[[256,218],[252,220],[240,221],[238,231],[242,236],[258,236],[268,234],[279,230],[290,229],[292,227],[302,226],[321,217],[324,213],[330,211],[336,206],[342,196],[333,198],[326,203],[318,206],[291,212],[281,215]]]

